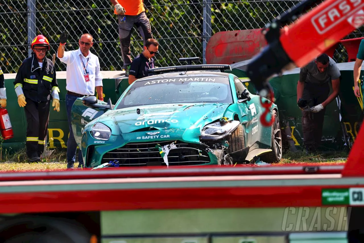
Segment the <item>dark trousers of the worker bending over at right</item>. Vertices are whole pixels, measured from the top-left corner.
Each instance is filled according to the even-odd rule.
[[[317,113],[302,111],[303,147],[308,152],[315,152],[321,144],[325,110]]]

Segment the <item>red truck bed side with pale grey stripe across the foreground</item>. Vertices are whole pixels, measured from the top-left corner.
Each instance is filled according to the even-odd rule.
[[[0,173],[0,212],[99,211],[105,205],[109,210],[318,207],[323,189],[364,187],[363,143],[361,129],[347,163],[340,165]]]

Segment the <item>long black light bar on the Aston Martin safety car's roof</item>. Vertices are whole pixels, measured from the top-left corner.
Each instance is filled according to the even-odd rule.
[[[157,67],[149,69],[149,74],[158,74],[162,72],[178,72],[178,71],[203,71],[203,70],[224,70],[231,71],[230,65],[226,64],[201,64],[201,65],[185,65],[185,66],[173,66],[173,67]]]

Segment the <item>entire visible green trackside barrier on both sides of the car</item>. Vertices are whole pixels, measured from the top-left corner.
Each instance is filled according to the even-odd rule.
[[[360,114],[363,110],[363,95],[361,99],[353,93],[353,65],[354,62],[338,63],[341,71],[340,101],[341,109],[337,102],[331,102],[327,109],[323,129],[323,145],[328,150],[344,149],[343,134],[347,134],[351,141],[355,141],[360,127]],[[246,74],[240,68],[231,71],[245,83],[251,93],[256,93],[254,87],[249,83]],[[129,86],[124,71],[102,71],[104,101],[108,98],[115,104],[120,95]],[[361,72],[362,77],[364,72]],[[14,137],[3,141],[3,149],[18,150],[25,147],[27,122],[23,108],[17,103],[14,90],[14,79],[16,74],[5,74],[5,87],[7,88],[7,109],[13,127]],[[297,81],[299,68],[285,72],[281,77],[272,78],[269,83],[273,87],[278,113],[281,122],[282,140],[287,149],[299,150],[302,145],[303,134],[301,127],[301,111],[297,107]],[[60,112],[57,113],[51,107],[50,122],[48,126],[48,148],[67,148],[69,129],[65,105],[66,95],[66,72],[57,72],[57,80],[60,88]],[[340,121],[341,113],[341,121]]]

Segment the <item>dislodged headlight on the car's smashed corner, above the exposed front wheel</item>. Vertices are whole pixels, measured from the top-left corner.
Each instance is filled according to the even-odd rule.
[[[202,140],[217,140],[221,139],[232,132],[238,127],[240,121],[229,122],[215,122],[206,125],[201,131]]]

